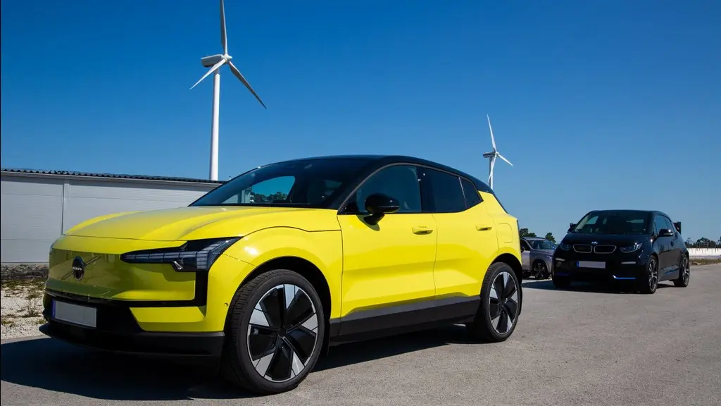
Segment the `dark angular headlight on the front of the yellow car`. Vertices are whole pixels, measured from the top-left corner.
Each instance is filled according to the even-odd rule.
[[[120,255],[120,260],[131,264],[171,264],[177,272],[208,271],[218,256],[239,239],[192,240],[179,247],[126,252]]]

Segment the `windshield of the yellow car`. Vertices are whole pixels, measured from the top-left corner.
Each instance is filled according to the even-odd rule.
[[[190,206],[324,207],[369,162],[342,157],[273,163],[231,179]]]

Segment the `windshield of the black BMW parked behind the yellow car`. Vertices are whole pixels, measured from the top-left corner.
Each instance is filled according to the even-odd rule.
[[[649,230],[650,217],[648,212],[637,210],[590,212],[572,233],[645,234]]]

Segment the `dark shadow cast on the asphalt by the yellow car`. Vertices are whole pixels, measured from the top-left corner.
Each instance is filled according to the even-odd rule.
[[[451,343],[472,343],[461,326],[331,347],[315,371],[363,363]],[[4,382],[109,400],[238,399],[255,395],[221,382],[216,368],[178,358],[115,355],[39,337],[0,349]]]

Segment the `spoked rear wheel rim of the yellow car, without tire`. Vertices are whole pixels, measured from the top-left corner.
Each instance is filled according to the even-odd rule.
[[[491,283],[488,295],[488,313],[491,326],[505,335],[513,328],[518,317],[518,287],[508,272],[500,272]]]

